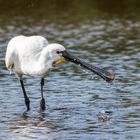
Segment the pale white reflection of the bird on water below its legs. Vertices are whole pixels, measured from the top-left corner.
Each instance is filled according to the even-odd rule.
[[[38,117],[35,117],[35,114],[32,114],[32,116],[29,116],[29,114],[24,114],[19,118],[19,120],[16,120],[16,122],[13,122],[12,126],[10,126],[10,130],[13,133],[18,134],[18,138],[26,139],[26,138],[32,138],[36,139],[38,136],[42,139],[47,138],[51,139],[51,136],[49,136],[49,133],[51,133],[51,124],[47,124],[47,122],[44,120],[46,117],[45,113],[40,113]],[[48,135],[48,137],[46,137]]]

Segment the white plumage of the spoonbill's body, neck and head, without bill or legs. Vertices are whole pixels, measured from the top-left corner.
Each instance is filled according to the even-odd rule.
[[[21,78],[23,74],[45,77],[53,62],[62,56],[57,51],[65,48],[60,44],[48,44],[42,36],[17,36],[10,40],[6,51],[6,67]]]

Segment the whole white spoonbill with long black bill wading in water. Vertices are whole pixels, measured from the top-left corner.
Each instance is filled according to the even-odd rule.
[[[6,67],[8,70],[14,71],[20,81],[27,111],[30,110],[30,100],[26,94],[22,76],[31,75],[41,78],[40,109],[45,110],[44,78],[53,67],[65,61],[78,64],[96,73],[107,82],[114,80],[114,74],[110,74],[71,55],[60,44],[49,44],[47,39],[42,36],[16,36],[9,41],[5,56]]]

